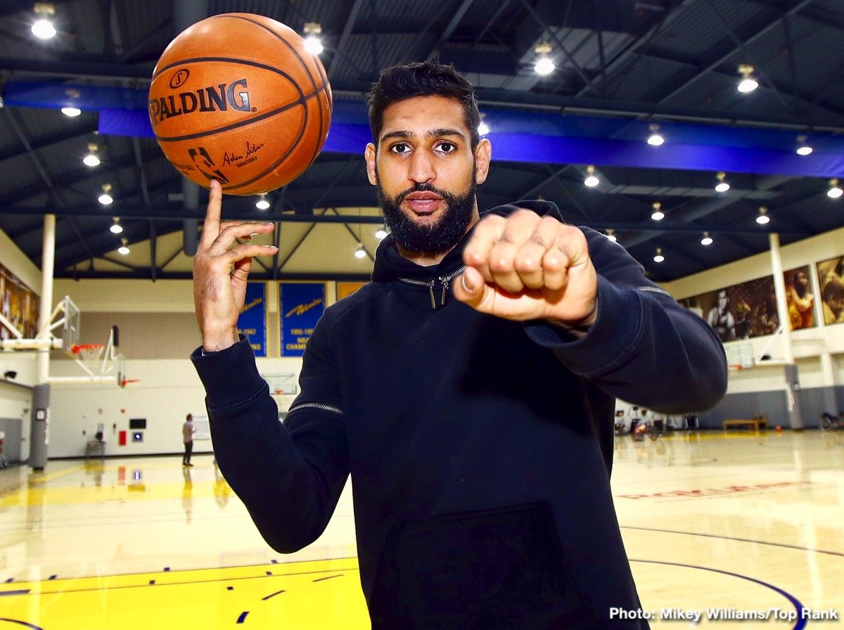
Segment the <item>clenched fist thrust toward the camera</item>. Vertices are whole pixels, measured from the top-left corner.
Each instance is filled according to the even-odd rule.
[[[490,215],[463,250],[467,269],[454,295],[481,313],[508,320],[548,320],[575,332],[598,315],[598,275],[580,229],[520,209]]]

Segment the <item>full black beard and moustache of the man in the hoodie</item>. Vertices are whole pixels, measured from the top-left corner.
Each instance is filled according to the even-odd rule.
[[[463,238],[463,234],[466,234],[474,214],[477,187],[473,180],[466,194],[452,195],[432,184],[416,184],[395,197],[387,197],[379,181],[376,191],[381,212],[384,213],[384,223],[387,223],[396,243],[408,251],[439,255],[451,251]],[[411,192],[433,192],[443,198],[446,210],[436,223],[419,225],[402,211],[404,197]]]

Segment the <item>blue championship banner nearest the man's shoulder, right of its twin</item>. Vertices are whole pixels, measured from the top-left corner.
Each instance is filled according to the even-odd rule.
[[[301,357],[325,310],[325,283],[279,283],[281,356]]]

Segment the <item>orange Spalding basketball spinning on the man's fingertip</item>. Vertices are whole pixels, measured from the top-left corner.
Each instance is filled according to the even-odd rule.
[[[331,124],[325,68],[295,30],[252,13],[188,27],[161,54],[149,121],[167,159],[188,179],[257,195],[295,180]]]

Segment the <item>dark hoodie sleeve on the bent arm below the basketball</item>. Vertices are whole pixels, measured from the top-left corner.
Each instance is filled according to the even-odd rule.
[[[191,356],[206,391],[219,469],[264,540],[284,553],[322,534],[349,476],[343,412],[331,393],[338,391],[334,370],[324,353],[309,353],[324,327],[317,324],[308,343],[300,383],[329,392],[327,401],[300,404],[297,397],[284,423],[246,338],[218,353],[197,348]]]

